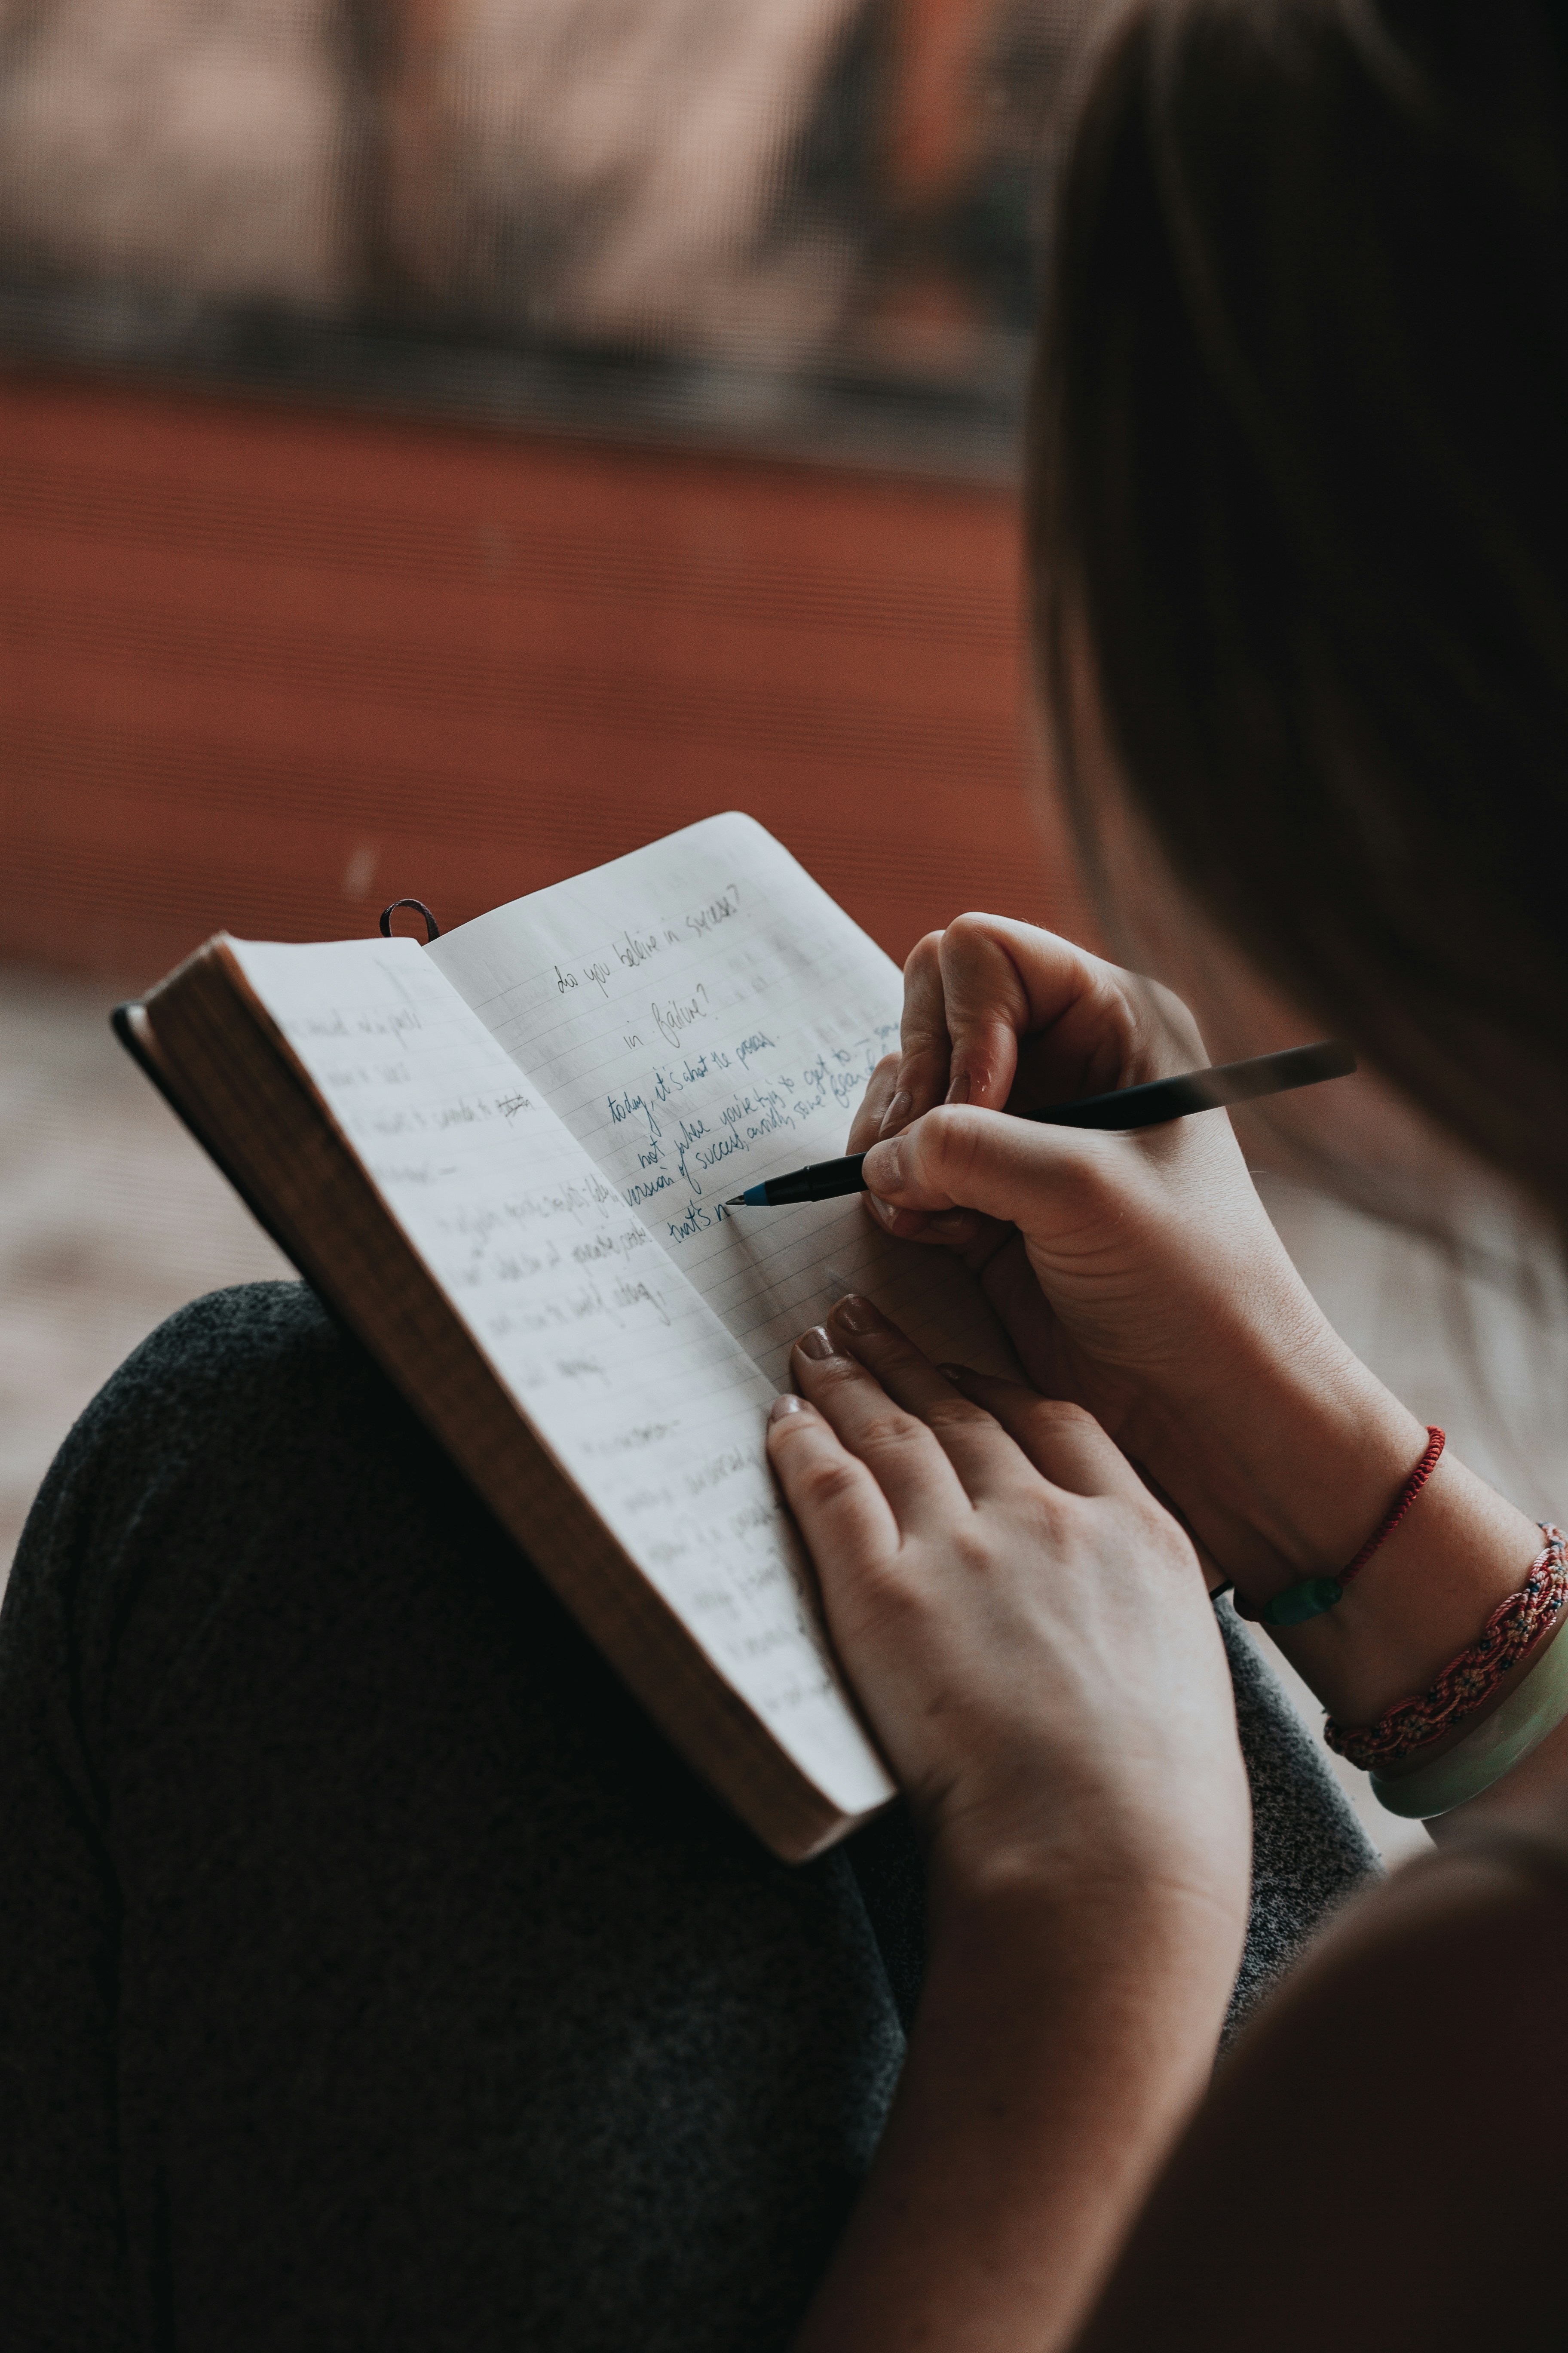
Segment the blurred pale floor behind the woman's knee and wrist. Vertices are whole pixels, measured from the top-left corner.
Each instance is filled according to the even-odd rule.
[[[0,972],[0,1577],[54,1447],[120,1358],[197,1292],[289,1273],[113,1042],[110,1002],[101,984]],[[1314,1193],[1265,1179],[1265,1200],[1335,1325],[1420,1419],[1535,1518],[1563,1515],[1563,1287],[1533,1311]],[[1316,1729],[1321,1708],[1286,1680]],[[1342,1779],[1389,1859],[1425,1847]]]

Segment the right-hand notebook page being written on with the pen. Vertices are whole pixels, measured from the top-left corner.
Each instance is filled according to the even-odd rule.
[[[929,1355],[1016,1374],[980,1287],[860,1202],[736,1209],[844,1151],[898,1045],[898,967],[750,816],[710,816],[437,939],[468,998],[649,1233],[785,1386],[790,1341],[849,1289]]]

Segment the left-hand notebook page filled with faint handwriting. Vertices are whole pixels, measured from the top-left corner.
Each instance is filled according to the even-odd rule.
[[[804,1600],[724,1322],[409,939],[233,951],[404,1235],[564,1471],[846,1814],[891,1795]]]

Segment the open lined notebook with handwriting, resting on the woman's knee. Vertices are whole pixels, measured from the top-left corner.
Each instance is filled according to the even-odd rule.
[[[418,946],[219,936],[120,1035],[672,1744],[780,1854],[891,1795],[764,1454],[788,1348],[867,1289],[1013,1369],[858,1200],[722,1202],[844,1148],[889,958],[748,816]]]

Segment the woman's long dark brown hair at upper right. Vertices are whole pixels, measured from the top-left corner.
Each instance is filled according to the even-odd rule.
[[[1561,1214],[1568,9],[1128,7],[1056,191],[1030,475],[1070,791],[1081,631],[1180,882]]]

